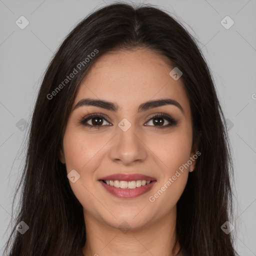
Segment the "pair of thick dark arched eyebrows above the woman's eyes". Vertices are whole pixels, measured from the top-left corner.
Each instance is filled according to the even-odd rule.
[[[144,103],[141,103],[137,108],[137,112],[142,112],[150,108],[163,106],[163,105],[174,105],[178,107],[181,110],[181,112],[184,114],[184,109],[181,107],[181,105],[176,100],[170,99],[170,98],[149,100]],[[92,99],[92,98],[83,98],[79,100],[74,106],[73,110],[80,106],[96,106],[96,107],[105,108],[107,110],[114,111],[114,112],[118,111],[119,109],[119,106],[116,103],[103,100],[103,99]]]

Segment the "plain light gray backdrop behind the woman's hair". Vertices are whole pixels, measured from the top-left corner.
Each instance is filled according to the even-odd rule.
[[[110,2],[0,0],[0,254],[10,231],[11,202],[24,163],[26,122],[29,125],[43,72],[74,25]],[[235,247],[240,255],[256,255],[256,0],[143,2],[171,12],[200,42],[229,123]],[[24,29],[15,24],[21,15],[29,21]],[[220,23],[226,15],[234,21],[229,29]]]

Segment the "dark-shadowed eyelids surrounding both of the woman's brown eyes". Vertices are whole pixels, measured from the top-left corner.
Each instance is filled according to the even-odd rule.
[[[104,120],[106,120],[108,123],[110,123],[109,126],[112,125],[111,122],[106,117],[106,115],[102,114],[102,113],[90,113],[90,114],[82,117],[79,122],[85,126],[90,127],[90,128],[101,128],[101,127],[107,126],[107,125],[98,125],[97,126],[97,125],[85,124],[86,121],[90,120],[93,117],[102,117]],[[164,126],[157,126],[157,125],[146,125],[146,126],[152,126],[154,128],[164,128],[164,127],[169,127],[169,126],[172,126],[172,125],[175,125],[178,123],[178,121],[176,119],[174,119],[173,117],[171,117],[170,115],[168,115],[164,112],[158,112],[158,113],[151,114],[149,117],[147,117],[148,120],[146,123],[148,123],[151,119],[157,118],[157,117],[161,117],[161,118],[167,120],[169,123],[165,124]]]

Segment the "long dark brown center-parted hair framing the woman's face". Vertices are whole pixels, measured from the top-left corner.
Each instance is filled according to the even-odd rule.
[[[149,5],[115,3],[78,23],[44,74],[32,115],[25,166],[16,188],[16,192],[21,189],[21,198],[15,226],[24,221],[29,229],[20,234],[12,227],[4,250],[8,255],[82,255],[86,241],[83,209],[70,188],[65,165],[59,161],[63,132],[88,68],[110,50],[134,47],[155,50],[182,71],[192,113],[193,144],[196,142],[201,152],[177,202],[178,255],[236,254],[232,233],[220,228],[232,217],[232,160],[224,116],[206,61],[195,39],[166,12]],[[72,72],[73,78],[65,80]]]

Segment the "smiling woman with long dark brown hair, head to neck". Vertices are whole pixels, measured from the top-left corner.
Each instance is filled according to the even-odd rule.
[[[236,255],[231,174],[223,113],[191,35],[155,7],[102,7],[44,75],[5,252]]]

